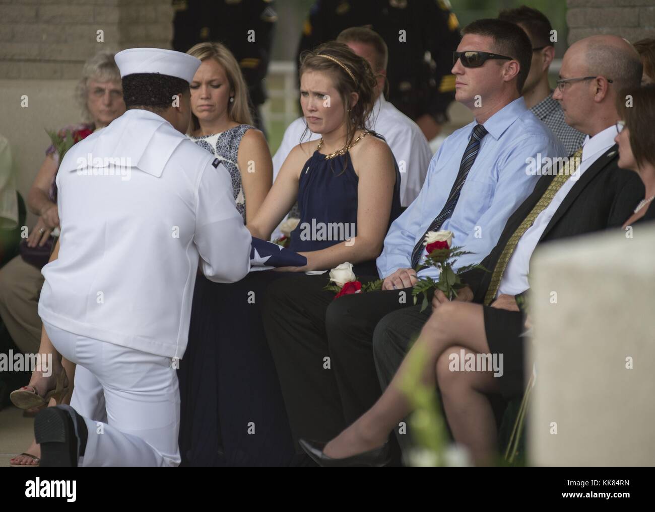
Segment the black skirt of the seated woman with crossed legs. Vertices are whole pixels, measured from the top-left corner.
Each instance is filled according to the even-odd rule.
[[[525,392],[525,356],[520,337],[525,331],[525,316],[518,311],[483,307],[485,333],[492,354],[503,354],[503,374],[498,379],[500,394],[510,401]]]

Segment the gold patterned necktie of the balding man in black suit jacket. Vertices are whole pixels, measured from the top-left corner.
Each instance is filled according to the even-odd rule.
[[[555,175],[552,182],[550,182],[550,185],[548,185],[548,188],[546,188],[544,195],[541,196],[541,199],[537,201],[532,211],[527,214],[527,217],[523,219],[521,225],[517,228],[516,231],[514,231],[514,234],[507,241],[505,248],[500,253],[498,262],[496,262],[493,273],[491,274],[491,282],[489,283],[489,288],[487,288],[487,294],[485,295],[486,305],[491,304],[496,298],[498,288],[500,288],[502,275],[507,268],[507,264],[510,262],[510,258],[512,258],[512,254],[514,254],[514,249],[518,245],[519,239],[521,239],[525,231],[529,230],[530,226],[534,224],[534,221],[538,215],[542,213],[542,211],[544,211],[546,208],[548,208],[548,205],[550,205],[553,197],[555,197],[555,194],[557,194],[559,189],[562,188],[562,185],[565,184],[569,177],[571,177],[571,175],[578,170],[581,158],[582,148],[578,148],[578,150],[576,150],[576,152],[574,152],[572,156],[569,157],[569,160],[567,161],[562,171]]]

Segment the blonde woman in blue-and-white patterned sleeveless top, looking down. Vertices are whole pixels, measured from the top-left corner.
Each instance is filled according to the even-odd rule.
[[[229,171],[236,209],[245,223],[255,216],[271,188],[269,146],[263,133],[252,126],[248,87],[230,50],[221,43],[198,43],[187,53],[202,61],[190,86],[189,138]]]

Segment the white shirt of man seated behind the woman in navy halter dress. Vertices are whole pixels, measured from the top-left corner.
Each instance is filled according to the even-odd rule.
[[[421,192],[428,172],[428,165],[432,158],[430,145],[421,128],[386,101],[382,94],[373,105],[368,124],[373,131],[386,139],[386,143],[396,157],[400,169],[400,204],[409,206]],[[284,131],[282,143],[273,157],[273,179],[277,177],[284,160],[295,146],[301,142],[320,139],[319,133],[307,129],[307,134],[301,141],[306,127],[305,118],[301,117],[293,121]]]

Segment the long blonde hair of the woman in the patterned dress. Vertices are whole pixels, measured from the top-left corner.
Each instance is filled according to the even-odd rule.
[[[238,124],[253,124],[252,114],[248,108],[248,86],[241,73],[241,69],[234,58],[234,55],[223,43],[198,43],[193,46],[187,54],[205,61],[214,59],[225,69],[230,90],[234,91],[234,102],[227,102],[227,114],[231,120]],[[198,118],[191,113],[191,125],[193,129],[199,129]]]

